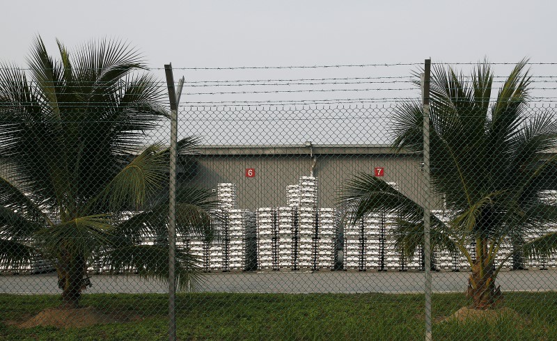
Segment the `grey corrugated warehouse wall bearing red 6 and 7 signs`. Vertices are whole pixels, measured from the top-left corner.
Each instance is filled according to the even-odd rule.
[[[417,203],[423,201],[421,155],[396,152],[388,145],[208,145],[197,148],[191,184],[217,190],[234,183],[239,209],[282,207],[287,187],[301,176],[319,179],[318,207],[336,207],[340,191],[358,173],[396,182]],[[184,170],[182,170],[184,171]]]

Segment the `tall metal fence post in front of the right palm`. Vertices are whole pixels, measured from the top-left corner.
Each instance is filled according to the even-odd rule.
[[[431,240],[430,240],[430,77],[431,59],[425,60],[422,75],[422,100],[423,100],[423,176],[425,193],[423,193],[423,253],[425,273],[425,340],[432,340],[432,311],[431,311]]]

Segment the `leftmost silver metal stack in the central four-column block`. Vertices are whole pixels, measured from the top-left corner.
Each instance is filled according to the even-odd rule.
[[[276,253],[276,235],[276,209],[261,207],[257,210],[258,269],[273,268],[274,253]]]

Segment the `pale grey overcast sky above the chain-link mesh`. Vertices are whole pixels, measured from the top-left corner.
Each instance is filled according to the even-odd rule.
[[[554,1],[4,1],[3,61],[24,65],[40,34],[70,49],[92,38],[128,40],[152,68],[423,63],[557,62]],[[295,79],[406,76],[416,65],[316,70],[175,70],[175,78]],[[557,75],[551,65],[534,74]],[[155,70],[164,77],[160,70]],[[496,74],[508,67],[496,66]],[[328,89],[328,86],[295,89]],[[358,88],[350,85],[347,88]],[[361,85],[359,88],[374,88]],[[390,88],[408,88],[398,84]],[[260,90],[262,88],[248,88]],[[268,88],[265,88],[268,89]],[[292,89],[292,86],[289,88]],[[230,91],[188,88],[189,93]],[[246,90],[246,88],[242,88]],[[401,90],[405,91],[405,90]],[[407,92],[406,92],[407,93]],[[379,97],[395,97],[393,91]],[[247,96],[247,97],[246,97]],[[189,101],[377,97],[372,92],[190,95]]]

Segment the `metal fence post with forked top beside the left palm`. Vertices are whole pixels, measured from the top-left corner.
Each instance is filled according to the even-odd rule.
[[[166,86],[168,86],[168,100],[171,110],[170,127],[170,162],[168,172],[168,340],[176,340],[176,145],[178,144],[178,102],[175,97],[172,64],[164,65]]]

